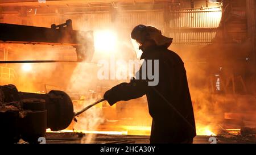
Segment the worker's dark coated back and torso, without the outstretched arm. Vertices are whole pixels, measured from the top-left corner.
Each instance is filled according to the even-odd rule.
[[[193,139],[196,135],[195,119],[183,61],[166,48],[147,52],[143,58],[146,61],[159,60],[159,83],[147,92],[148,108],[153,118],[151,143],[180,143]]]

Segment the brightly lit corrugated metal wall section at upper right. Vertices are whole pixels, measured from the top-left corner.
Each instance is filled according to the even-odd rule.
[[[171,12],[170,36],[174,44],[208,44],[217,32],[221,9],[190,9]]]

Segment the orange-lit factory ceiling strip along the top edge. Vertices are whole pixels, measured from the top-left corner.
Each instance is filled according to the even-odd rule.
[[[22,16],[30,15],[27,10],[37,9],[38,14],[73,14],[83,12],[113,11],[113,10],[164,10],[169,7],[171,10],[190,9],[201,6],[214,6],[217,3],[208,3],[205,0],[3,0],[0,1],[0,14],[15,14]],[[218,6],[218,5],[217,5]],[[56,10],[58,9],[58,10]],[[33,12],[30,10],[30,12]]]

